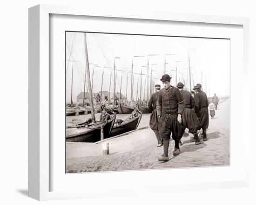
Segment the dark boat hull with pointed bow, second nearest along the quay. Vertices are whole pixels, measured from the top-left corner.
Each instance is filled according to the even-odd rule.
[[[121,135],[123,133],[126,132],[130,132],[132,130],[135,130],[138,128],[140,122],[141,122],[141,116],[142,114],[140,114],[139,116],[126,120],[124,122],[122,122],[120,125],[115,124],[114,127],[112,128],[112,131],[110,133],[110,136],[116,136],[116,135]]]

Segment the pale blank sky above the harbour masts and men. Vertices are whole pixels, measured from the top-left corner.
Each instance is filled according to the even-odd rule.
[[[155,84],[160,84],[164,67],[166,73],[172,74],[173,86],[185,80],[185,87],[189,89],[188,69],[191,72],[191,86],[202,84],[202,89],[208,96],[229,96],[230,82],[230,42],[229,39],[162,37],[127,34],[86,33],[88,46],[88,60],[90,64],[90,78],[93,79],[93,92],[101,91],[102,71],[103,89],[113,92],[113,68],[117,69],[116,91],[131,98],[131,69],[141,73],[134,76],[133,97],[147,96],[147,62],[149,74]],[[84,89],[85,74],[85,35],[83,32],[66,33],[66,95],[67,103],[71,99],[71,79],[73,67],[73,102]],[[150,56],[150,55],[155,56]],[[166,55],[171,54],[171,55]],[[148,56],[149,55],[149,56]],[[133,57],[144,56],[144,57]],[[116,60],[115,60],[116,58]],[[165,65],[166,62],[166,66]],[[95,66],[96,65],[96,66]],[[190,66],[189,66],[190,65]],[[112,71],[110,71],[110,68]],[[105,67],[105,68],[104,68]],[[177,67],[177,82],[175,69]],[[110,83],[110,75],[112,79]],[[94,74],[94,75],[92,75]],[[92,77],[93,76],[93,77]],[[121,77],[122,76],[122,77]],[[128,78],[127,78],[128,76]],[[139,77],[139,79],[138,79]],[[122,78],[122,83],[121,83]],[[127,81],[128,79],[128,81]],[[127,83],[128,82],[128,83]],[[141,83],[142,82],[142,83]],[[138,86],[137,86],[138,84]],[[87,86],[87,85],[86,85]],[[140,94],[141,93],[141,94]]]

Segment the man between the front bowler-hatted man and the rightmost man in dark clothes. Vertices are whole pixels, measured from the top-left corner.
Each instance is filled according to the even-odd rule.
[[[195,144],[202,144],[202,141],[199,140],[197,135],[197,129],[199,127],[199,121],[197,116],[195,115],[194,108],[195,100],[190,94],[189,91],[183,90],[183,83],[178,83],[177,88],[180,90],[180,93],[182,95],[182,98],[185,102],[185,108],[182,113],[182,124],[185,128],[189,129],[189,133],[192,133],[194,135],[194,138],[191,138],[191,141],[195,141]]]

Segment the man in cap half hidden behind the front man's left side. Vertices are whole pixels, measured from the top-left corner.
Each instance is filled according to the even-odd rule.
[[[158,120],[157,120],[157,112],[156,112],[156,101],[159,96],[159,91],[161,89],[160,85],[155,85],[155,93],[149,98],[148,101],[148,108],[152,111],[149,120],[149,127],[154,131],[156,139],[157,139],[157,147],[161,147],[162,144],[162,137],[158,131]]]

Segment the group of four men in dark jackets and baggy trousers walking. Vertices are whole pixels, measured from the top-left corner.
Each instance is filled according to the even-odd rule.
[[[176,87],[170,84],[168,74],[162,76],[164,88],[155,85],[155,93],[148,101],[149,109],[153,110],[149,126],[154,131],[158,147],[163,145],[163,154],[158,156],[160,161],[168,161],[168,147],[170,136],[175,141],[173,155],[180,153],[179,142],[186,128],[193,134],[191,141],[196,145],[202,144],[197,131],[202,129],[202,139],[207,141],[206,129],[209,125],[208,98],[201,90],[202,85],[196,84],[193,88],[195,98],[187,90],[183,90],[183,83]]]

